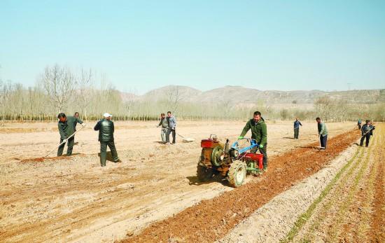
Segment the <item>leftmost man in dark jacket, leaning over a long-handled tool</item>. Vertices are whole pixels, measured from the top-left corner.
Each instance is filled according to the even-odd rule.
[[[74,116],[66,116],[64,113],[59,113],[57,115],[57,118],[59,118],[59,122],[57,123],[57,128],[59,129],[60,134],[60,144],[64,142],[64,144],[60,145],[57,149],[57,156],[62,156],[64,146],[67,143],[67,150],[66,155],[71,156],[72,149],[73,149],[73,141],[75,141],[75,136],[70,137],[75,132],[75,124],[80,123],[82,126],[85,126],[83,123],[83,120],[80,120],[79,118],[76,118]]]

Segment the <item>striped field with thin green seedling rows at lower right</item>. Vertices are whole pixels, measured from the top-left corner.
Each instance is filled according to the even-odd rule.
[[[385,242],[385,125],[332,184],[293,242]]]

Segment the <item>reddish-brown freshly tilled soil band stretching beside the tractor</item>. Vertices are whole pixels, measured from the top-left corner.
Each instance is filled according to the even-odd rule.
[[[339,153],[353,144],[358,130],[339,134],[328,141],[329,148],[316,151],[310,144],[269,159],[269,172],[240,188],[193,207],[164,221],[153,223],[139,235],[121,242],[214,242],[224,237],[239,221],[269,202],[275,195],[293,186],[297,181],[318,172]],[[332,148],[332,149],[331,149]]]

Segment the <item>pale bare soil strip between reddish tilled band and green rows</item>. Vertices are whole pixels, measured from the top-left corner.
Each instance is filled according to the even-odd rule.
[[[311,204],[332,183],[332,179],[349,163],[358,146],[353,144],[320,169],[290,189],[276,195],[250,217],[238,223],[218,243],[230,242],[278,242],[284,240],[292,230],[297,218],[302,218]],[[255,230],[258,229],[258,230]]]

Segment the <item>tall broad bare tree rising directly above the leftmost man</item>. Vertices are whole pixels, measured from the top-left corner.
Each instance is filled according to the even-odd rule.
[[[45,67],[42,82],[54,108],[62,112],[73,95],[75,86],[73,74],[68,68],[55,64],[53,67]]]

